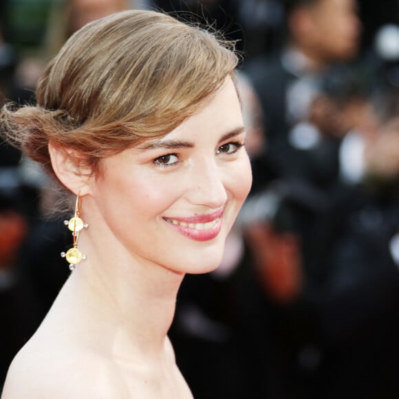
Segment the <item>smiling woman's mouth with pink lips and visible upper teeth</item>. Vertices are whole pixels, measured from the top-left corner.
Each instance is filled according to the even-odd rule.
[[[219,235],[222,228],[222,215],[224,209],[204,215],[191,217],[165,217],[164,220],[186,237],[196,241],[208,241]]]

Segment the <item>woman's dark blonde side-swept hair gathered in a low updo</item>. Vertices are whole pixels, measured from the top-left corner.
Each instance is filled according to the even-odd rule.
[[[37,105],[3,107],[2,130],[50,174],[50,141],[96,172],[101,158],[175,129],[236,66],[233,44],[215,32],[118,12],[69,38],[39,80]]]

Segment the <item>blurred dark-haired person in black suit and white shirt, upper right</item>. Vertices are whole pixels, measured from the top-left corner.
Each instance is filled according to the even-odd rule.
[[[290,0],[285,3],[285,44],[244,63],[261,101],[267,156],[283,175],[301,171],[304,151],[319,142],[309,105],[321,74],[358,52],[360,21],[354,0]]]

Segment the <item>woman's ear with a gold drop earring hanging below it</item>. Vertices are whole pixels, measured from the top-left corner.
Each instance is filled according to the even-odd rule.
[[[52,168],[58,180],[75,195],[89,193],[91,169],[83,164],[83,157],[78,151],[58,146],[53,142],[48,144]]]

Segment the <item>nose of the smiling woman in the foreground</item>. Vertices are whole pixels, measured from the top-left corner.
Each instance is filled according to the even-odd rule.
[[[215,161],[200,162],[188,176],[189,188],[186,199],[191,204],[219,208],[226,204],[228,195],[223,182],[222,170]]]

